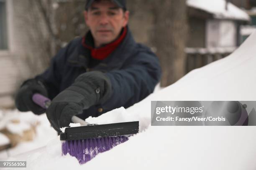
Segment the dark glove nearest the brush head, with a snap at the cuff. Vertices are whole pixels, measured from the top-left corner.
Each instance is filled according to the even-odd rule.
[[[47,118],[53,128],[60,132],[59,128],[69,126],[73,115],[81,114],[84,109],[108,100],[111,91],[111,82],[104,73],[83,73],[52,100],[46,110]]]

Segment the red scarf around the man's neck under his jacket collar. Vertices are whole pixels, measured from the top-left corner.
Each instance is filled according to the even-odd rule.
[[[123,29],[123,33],[120,35],[120,37],[115,40],[114,42],[111,42],[110,44],[107,44],[100,48],[94,48],[86,44],[85,42],[85,36],[82,39],[82,45],[89,50],[91,50],[91,56],[97,60],[104,60],[107,58],[115,49],[118,47],[118,45],[123,41],[125,38],[125,35],[127,33],[127,28],[125,27]]]

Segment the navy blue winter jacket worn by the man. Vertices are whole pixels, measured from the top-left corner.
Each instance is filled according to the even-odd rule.
[[[89,32],[90,33],[90,32]],[[118,107],[129,107],[154,90],[161,77],[159,60],[151,50],[134,41],[128,29],[120,45],[104,60],[93,59],[82,38],[72,40],[51,60],[50,67],[36,78],[40,79],[52,100],[72,85],[84,72],[104,72],[111,80],[112,95],[101,105],[83,111],[81,118],[97,117]]]

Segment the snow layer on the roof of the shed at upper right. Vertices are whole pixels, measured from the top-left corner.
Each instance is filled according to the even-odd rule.
[[[228,10],[226,10],[225,0],[187,0],[187,5],[212,13],[214,14],[214,18],[217,19],[250,20],[246,12],[230,2],[228,2]]]

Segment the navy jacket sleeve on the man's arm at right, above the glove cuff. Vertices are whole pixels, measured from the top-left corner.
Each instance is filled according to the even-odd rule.
[[[114,108],[127,108],[154,91],[161,78],[161,67],[153,52],[143,51],[134,55],[121,70],[113,70],[106,75],[112,84],[112,95],[102,107],[108,110],[108,104],[113,106],[114,103]]]

